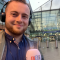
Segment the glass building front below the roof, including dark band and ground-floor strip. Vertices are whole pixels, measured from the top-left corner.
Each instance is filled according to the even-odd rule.
[[[59,35],[60,37],[60,10],[48,10],[34,12],[32,14],[33,30],[30,29],[30,36],[48,37]]]

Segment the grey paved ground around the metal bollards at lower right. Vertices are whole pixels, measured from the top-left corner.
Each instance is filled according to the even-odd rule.
[[[55,48],[55,42],[49,43],[49,48],[46,48],[46,43],[41,43],[41,51],[44,60],[60,60],[60,41],[58,41],[58,49]]]

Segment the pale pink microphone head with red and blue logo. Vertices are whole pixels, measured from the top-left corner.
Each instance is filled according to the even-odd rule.
[[[26,60],[41,60],[41,54],[38,49],[29,49],[26,53]]]

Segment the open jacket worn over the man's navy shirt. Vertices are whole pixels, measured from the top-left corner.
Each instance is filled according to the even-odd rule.
[[[30,38],[25,37],[30,48],[38,48],[37,42],[32,41]],[[5,42],[5,32],[2,30],[0,31],[0,60],[5,60],[7,52],[7,46]],[[44,60],[43,55],[41,54],[41,60]]]

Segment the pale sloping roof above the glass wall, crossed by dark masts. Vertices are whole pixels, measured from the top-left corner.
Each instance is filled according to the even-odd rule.
[[[34,12],[43,11],[43,10],[51,10],[51,9],[60,9],[60,0],[49,0],[43,5],[36,8]]]

